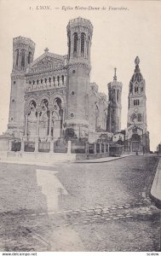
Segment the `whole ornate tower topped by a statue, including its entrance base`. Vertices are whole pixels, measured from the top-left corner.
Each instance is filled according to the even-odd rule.
[[[127,136],[130,151],[149,151],[149,132],[147,131],[146,81],[143,79],[140,59],[135,58],[135,72],[129,81],[129,103]]]

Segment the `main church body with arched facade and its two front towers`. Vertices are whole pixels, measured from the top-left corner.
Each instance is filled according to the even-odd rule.
[[[108,104],[90,83],[93,26],[78,17],[67,27],[67,55],[45,49],[33,61],[35,44],[14,38],[8,133],[29,142],[73,137],[88,141],[106,131]]]

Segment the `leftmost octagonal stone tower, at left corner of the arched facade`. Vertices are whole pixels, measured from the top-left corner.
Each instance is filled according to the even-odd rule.
[[[34,51],[35,44],[31,39],[14,38],[8,124],[8,132],[14,137],[22,137],[24,131],[25,73],[33,61]]]

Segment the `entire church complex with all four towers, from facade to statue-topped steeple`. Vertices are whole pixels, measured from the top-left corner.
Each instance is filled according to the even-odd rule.
[[[46,48],[35,60],[32,39],[14,38],[7,134],[20,140],[25,151],[53,153],[67,141],[79,149],[81,143],[104,143],[93,148],[93,153],[106,152],[105,143],[109,148],[109,143],[118,141],[127,151],[149,151],[146,84],[139,58],[129,82],[128,125],[121,131],[123,84],[116,68],[107,84],[108,98],[90,82],[92,35],[90,20],[69,20],[67,55]]]

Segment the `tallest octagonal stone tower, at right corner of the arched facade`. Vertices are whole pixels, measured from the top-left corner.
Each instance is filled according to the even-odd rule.
[[[66,133],[78,139],[89,134],[90,46],[93,26],[78,17],[67,25],[68,63],[66,88]]]

